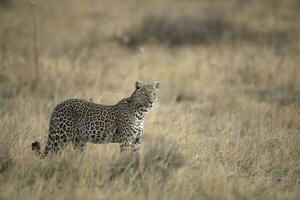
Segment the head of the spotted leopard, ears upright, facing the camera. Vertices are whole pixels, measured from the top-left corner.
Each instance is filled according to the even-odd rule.
[[[152,108],[154,103],[158,101],[159,82],[146,85],[140,81],[135,83],[135,91],[130,97],[130,101],[136,107]]]

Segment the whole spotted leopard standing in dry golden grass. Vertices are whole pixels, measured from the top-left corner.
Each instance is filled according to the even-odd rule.
[[[41,158],[57,154],[69,143],[80,152],[85,151],[87,143],[118,143],[120,152],[136,152],[141,147],[147,113],[158,102],[158,92],[158,81],[136,81],[133,93],[114,105],[65,100],[51,114],[44,150],[36,140],[31,149]]]

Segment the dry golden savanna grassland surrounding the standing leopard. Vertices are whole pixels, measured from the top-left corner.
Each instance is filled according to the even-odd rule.
[[[0,199],[299,199],[300,3],[0,1]],[[139,153],[40,160],[54,106],[159,80]]]

